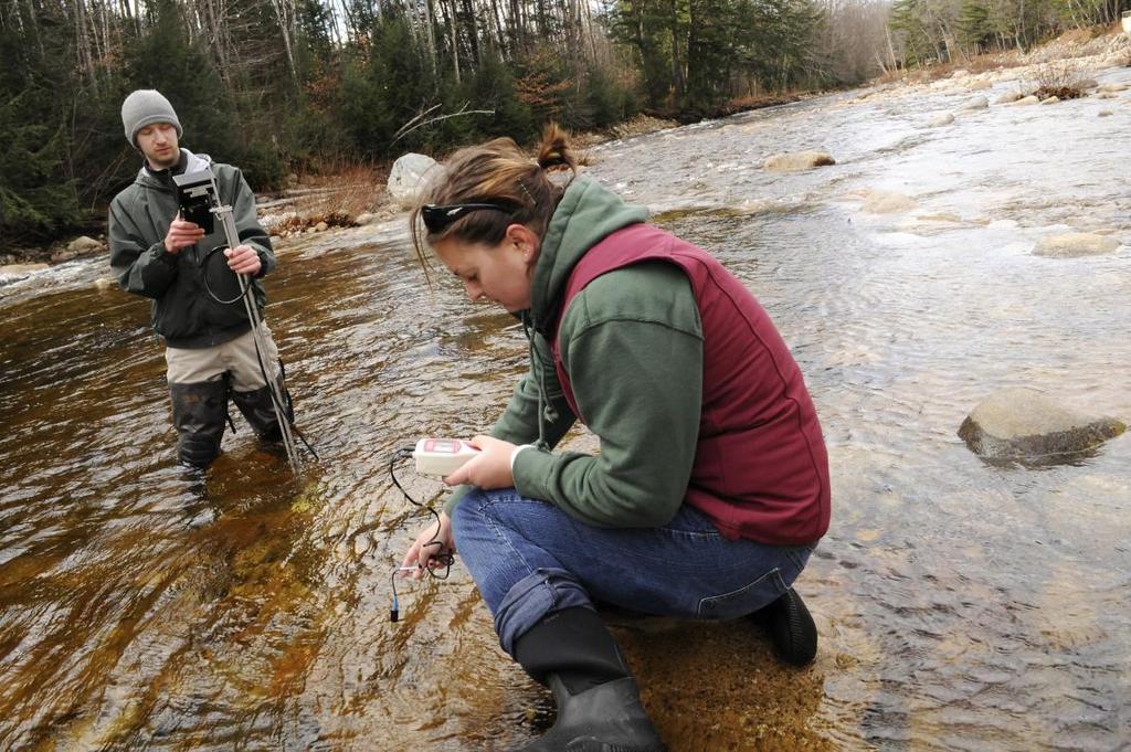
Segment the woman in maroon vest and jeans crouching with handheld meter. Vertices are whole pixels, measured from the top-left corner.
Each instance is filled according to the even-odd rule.
[[[812,660],[791,586],[829,525],[817,412],[742,283],[578,178],[556,127],[536,164],[497,139],[444,167],[413,213],[416,251],[523,320],[530,370],[404,565],[421,577],[458,548],[502,649],[553,691],[558,720],[525,749],[662,750],[594,604],[758,614],[784,660]],[[575,421],[598,455],[553,451]]]

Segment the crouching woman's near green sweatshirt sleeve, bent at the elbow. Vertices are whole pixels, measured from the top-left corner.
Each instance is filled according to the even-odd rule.
[[[702,400],[702,327],[690,282],[671,265],[590,283],[562,323],[562,358],[601,453],[526,450],[519,493],[601,527],[655,527],[687,494]]]

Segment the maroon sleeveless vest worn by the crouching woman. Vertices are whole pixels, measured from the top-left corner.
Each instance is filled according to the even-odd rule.
[[[687,503],[722,535],[815,543],[829,527],[829,461],[801,370],[754,296],[706,251],[649,225],[619,230],[573,268],[553,339],[562,391],[582,423],[561,358],[561,319],[592,280],[642,261],[691,280],[703,330],[702,416]]]

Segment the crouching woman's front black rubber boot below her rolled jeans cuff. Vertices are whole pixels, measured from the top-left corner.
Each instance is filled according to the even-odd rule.
[[[554,693],[558,720],[526,752],[663,752],[612,634],[588,608],[550,614],[515,642],[515,659]]]

